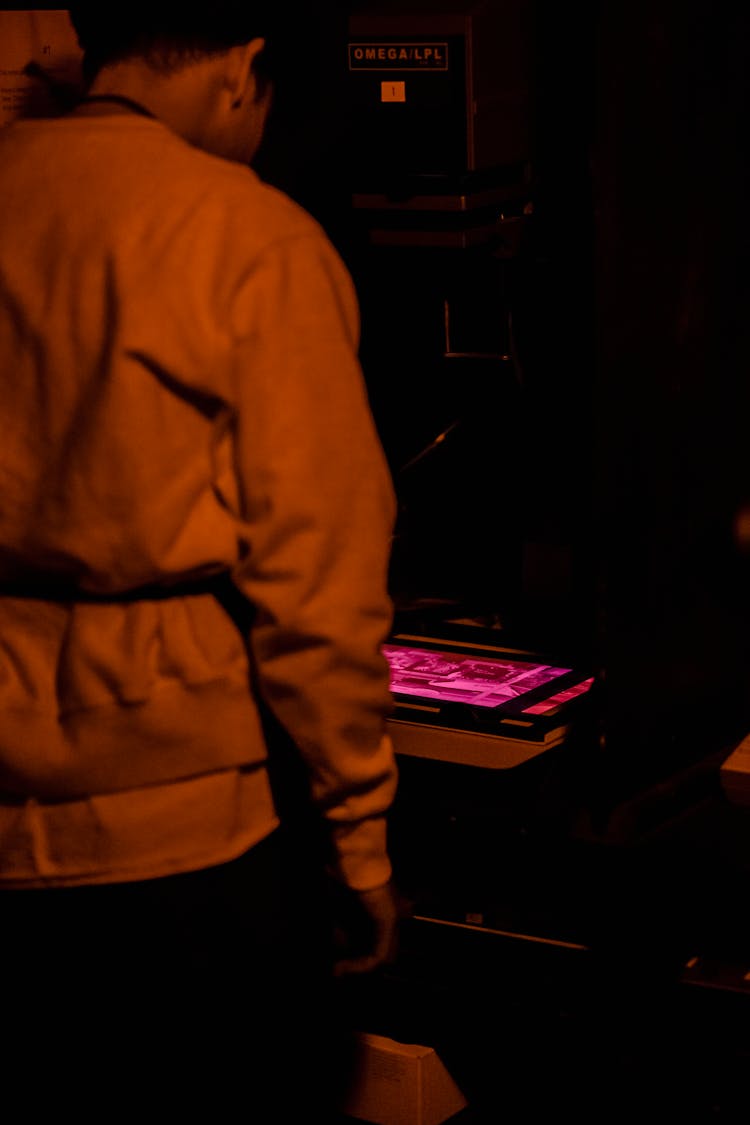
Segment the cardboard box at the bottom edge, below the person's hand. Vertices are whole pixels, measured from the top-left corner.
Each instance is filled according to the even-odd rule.
[[[433,1047],[360,1035],[360,1072],[345,1112],[370,1125],[442,1125],[467,1099]]]

